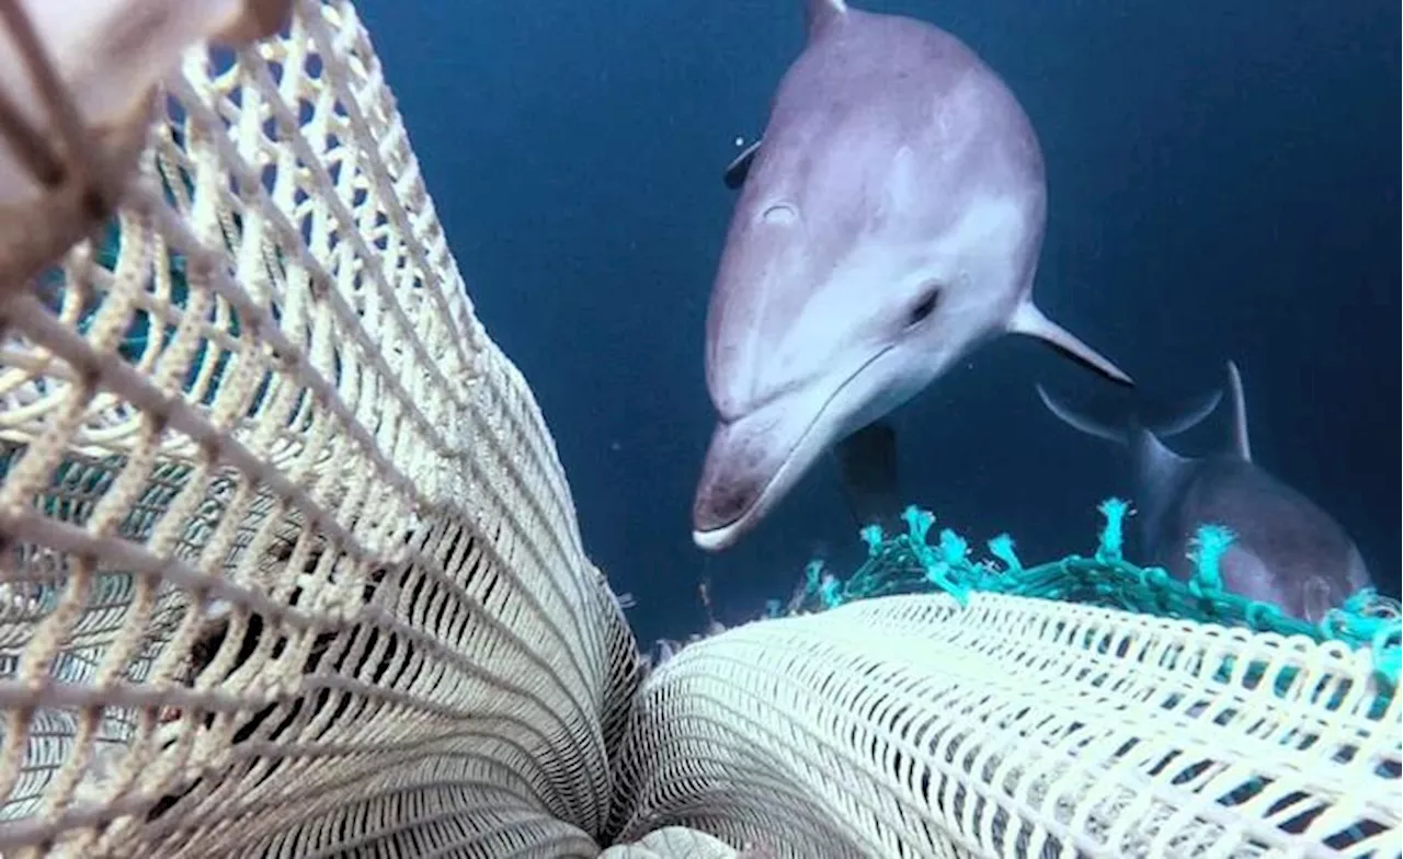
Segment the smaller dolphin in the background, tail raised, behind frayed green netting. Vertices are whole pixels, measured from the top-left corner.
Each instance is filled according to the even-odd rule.
[[[1037,389],[1062,422],[1129,446],[1141,547],[1152,564],[1187,580],[1194,571],[1191,542],[1201,525],[1214,524],[1235,535],[1221,567],[1226,590],[1271,602],[1294,618],[1316,623],[1371,587],[1364,557],[1330,514],[1253,462],[1242,373],[1235,362],[1228,362],[1233,444],[1202,459],[1173,452],[1134,415],[1125,427],[1113,427],[1075,411],[1041,385]],[[1197,410],[1174,431],[1187,429],[1209,411]]]

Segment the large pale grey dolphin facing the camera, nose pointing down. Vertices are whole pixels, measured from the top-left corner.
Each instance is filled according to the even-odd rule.
[[[923,21],[808,0],[807,42],[739,188],[706,327],[718,420],[693,540],[734,545],[846,439],[847,477],[894,473],[878,424],[979,344],[1042,340],[1129,376],[1031,296],[1047,219],[1042,154],[1017,100]],[[861,494],[891,495],[881,476]],[[859,504],[860,507],[861,504]]]

